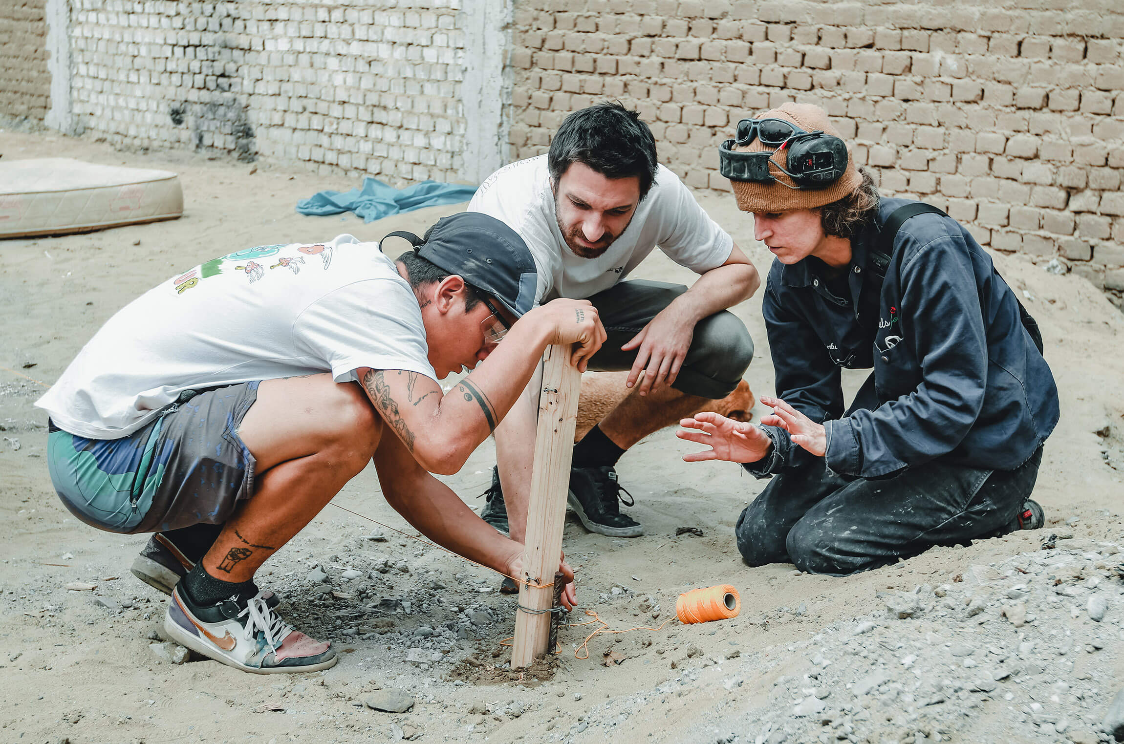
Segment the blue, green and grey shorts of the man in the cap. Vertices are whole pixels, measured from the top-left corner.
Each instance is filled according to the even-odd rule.
[[[219,525],[254,492],[254,456],[238,428],[257,382],[187,391],[119,439],[90,439],[52,423],[47,466],[63,505],[115,533]]]

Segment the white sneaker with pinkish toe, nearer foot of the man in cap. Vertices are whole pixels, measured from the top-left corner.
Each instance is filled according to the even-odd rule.
[[[164,633],[181,646],[257,674],[315,672],[339,660],[330,643],[294,630],[261,593],[197,605],[183,588],[172,590]]]

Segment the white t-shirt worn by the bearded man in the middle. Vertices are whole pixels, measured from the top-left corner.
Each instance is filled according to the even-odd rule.
[[[726,263],[734,247],[729,235],[663,165],[628,228],[597,258],[582,258],[566,247],[554,209],[546,155],[517,161],[492,173],[477,189],[469,211],[502,220],[531,248],[538,269],[536,302],[559,297],[581,299],[607,290],[655,247],[699,274]]]

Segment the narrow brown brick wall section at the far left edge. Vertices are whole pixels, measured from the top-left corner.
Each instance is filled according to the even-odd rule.
[[[51,98],[46,0],[0,0],[0,114],[43,120]]]

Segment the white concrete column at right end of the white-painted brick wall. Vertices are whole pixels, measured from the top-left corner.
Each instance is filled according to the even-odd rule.
[[[465,0],[457,20],[464,34],[464,165],[461,176],[481,183],[507,163],[511,119],[513,0]]]

